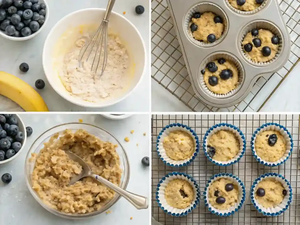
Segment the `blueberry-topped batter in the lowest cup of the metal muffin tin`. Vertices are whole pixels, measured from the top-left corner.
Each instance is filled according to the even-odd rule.
[[[225,62],[224,62],[225,61]],[[235,64],[231,61],[223,59],[220,61],[223,64],[220,64],[218,60],[213,61],[214,65],[217,67],[217,71],[214,71],[209,68],[209,63],[207,64],[204,71],[204,82],[209,90],[216,94],[227,94],[228,92],[234,90],[238,85],[238,69]],[[211,63],[211,62],[210,62]],[[210,71],[211,70],[211,71]],[[221,73],[223,70],[228,70],[230,73],[229,77],[223,77]],[[201,71],[203,73],[203,70]],[[213,79],[210,78],[214,76]],[[221,78],[222,77],[222,78]]]

